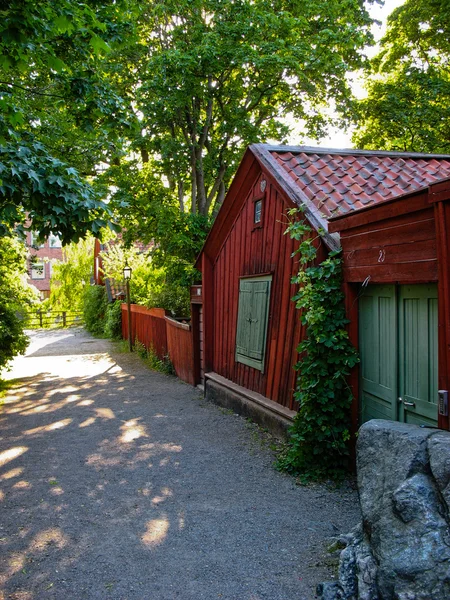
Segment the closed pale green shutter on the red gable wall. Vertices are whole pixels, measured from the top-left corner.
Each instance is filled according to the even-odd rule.
[[[241,279],[236,360],[264,372],[272,277]]]

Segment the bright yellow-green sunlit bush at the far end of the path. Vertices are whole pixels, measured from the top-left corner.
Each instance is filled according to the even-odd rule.
[[[71,243],[62,250],[63,261],[52,264],[49,304],[52,310],[81,311],[86,285],[92,274],[94,239]]]

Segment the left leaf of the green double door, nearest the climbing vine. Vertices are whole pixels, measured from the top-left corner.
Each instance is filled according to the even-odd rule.
[[[397,418],[395,286],[371,285],[359,300],[361,422]]]

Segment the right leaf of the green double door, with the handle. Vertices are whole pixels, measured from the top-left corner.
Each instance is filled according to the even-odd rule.
[[[437,425],[436,285],[399,289],[399,420]]]

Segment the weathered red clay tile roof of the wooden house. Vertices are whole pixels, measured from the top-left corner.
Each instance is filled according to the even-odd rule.
[[[450,156],[256,145],[326,218],[450,177]],[[255,147],[256,147],[255,146]]]

